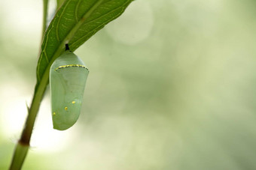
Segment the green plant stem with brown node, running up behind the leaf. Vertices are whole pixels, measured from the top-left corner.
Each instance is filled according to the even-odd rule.
[[[44,16],[43,16],[43,25],[42,25],[42,34],[41,41],[44,37],[44,32],[46,30],[47,22],[47,9],[48,9],[48,0],[44,0]],[[31,103],[30,109],[28,109],[28,117],[26,118],[26,123],[23,128],[23,133],[20,136],[20,140],[17,142],[17,145],[14,149],[14,155],[11,160],[10,170],[19,170],[22,168],[26,154],[29,151],[29,143],[32,135],[32,130],[35,124],[35,118],[38,114],[39,106],[42,98],[44,97],[44,91],[47,87],[49,79],[49,69],[41,79],[41,82],[38,82],[38,85],[35,85],[35,93]],[[38,87],[38,88],[36,88]]]

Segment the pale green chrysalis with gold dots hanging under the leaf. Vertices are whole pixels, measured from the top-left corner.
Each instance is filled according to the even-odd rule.
[[[50,96],[53,128],[66,130],[78,120],[89,70],[69,51],[56,58],[50,67]]]

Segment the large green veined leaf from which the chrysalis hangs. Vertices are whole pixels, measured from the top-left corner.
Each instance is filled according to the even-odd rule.
[[[133,0],[65,1],[44,34],[37,66],[37,84],[43,77],[44,82],[48,79],[50,65],[64,52],[66,43],[69,43],[69,48],[74,52],[108,22],[120,16],[131,1]]]

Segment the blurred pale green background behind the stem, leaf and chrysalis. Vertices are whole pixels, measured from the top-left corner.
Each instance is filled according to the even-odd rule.
[[[0,4],[0,169],[8,169],[34,90],[42,1]],[[255,7],[134,1],[75,52],[90,75],[74,127],[53,130],[47,90],[23,169],[256,169]]]

